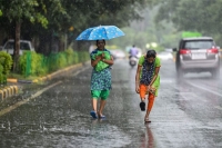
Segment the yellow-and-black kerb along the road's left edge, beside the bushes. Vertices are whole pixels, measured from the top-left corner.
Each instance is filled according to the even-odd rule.
[[[7,79],[7,86],[3,86],[2,88],[0,88],[0,101],[16,96],[19,93],[19,90],[21,89],[21,83],[36,83],[36,82],[43,82],[47,80],[52,80],[53,78],[57,78],[59,76],[68,76],[70,75],[73,70],[75,70],[77,68],[81,68],[83,65],[85,63],[77,63],[70,67],[67,67],[64,69],[58,70],[56,72],[52,72],[50,75],[47,75],[44,77],[40,77],[38,79],[34,80],[19,80],[19,79]]]

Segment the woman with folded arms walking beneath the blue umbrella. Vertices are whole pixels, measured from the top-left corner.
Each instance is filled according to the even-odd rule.
[[[90,115],[93,118],[105,118],[102,115],[107,99],[110,95],[111,86],[111,71],[110,66],[113,65],[113,57],[110,51],[104,48],[104,40],[97,40],[97,49],[90,53],[92,75],[91,75],[91,98],[92,111]],[[98,110],[97,103],[100,100],[100,108]]]

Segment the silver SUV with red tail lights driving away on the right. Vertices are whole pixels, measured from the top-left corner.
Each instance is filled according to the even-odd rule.
[[[198,37],[180,40],[175,56],[178,77],[186,72],[210,71],[213,78],[220,77],[219,47],[213,38]]]

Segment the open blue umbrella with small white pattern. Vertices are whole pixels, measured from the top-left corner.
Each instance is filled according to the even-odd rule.
[[[84,30],[75,40],[110,40],[124,36],[124,32],[115,26],[99,26]]]

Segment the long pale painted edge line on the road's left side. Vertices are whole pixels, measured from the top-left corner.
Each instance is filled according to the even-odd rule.
[[[8,114],[8,112],[10,112],[10,111],[13,110],[13,109],[20,107],[21,105],[27,103],[28,101],[30,101],[30,100],[34,99],[36,97],[40,96],[42,92],[47,91],[48,89],[50,89],[50,88],[52,88],[52,87],[54,87],[54,86],[57,86],[57,85],[59,85],[59,83],[61,83],[61,82],[62,82],[62,81],[58,81],[58,82],[56,82],[56,83],[52,83],[51,86],[48,86],[48,87],[41,89],[40,91],[36,92],[36,93],[32,95],[31,97],[29,97],[29,98],[27,98],[27,99],[24,99],[24,100],[22,100],[22,101],[19,101],[19,102],[17,102],[17,103],[14,103],[14,105],[12,105],[12,106],[10,106],[10,107],[8,107],[8,108],[1,110],[1,111],[0,111],[0,117],[3,116],[3,115],[6,115],[6,114]]]

